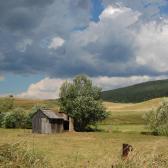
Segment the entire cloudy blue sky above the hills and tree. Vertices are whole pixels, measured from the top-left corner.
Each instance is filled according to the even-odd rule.
[[[0,1],[0,96],[54,99],[86,74],[103,90],[168,78],[167,0]]]

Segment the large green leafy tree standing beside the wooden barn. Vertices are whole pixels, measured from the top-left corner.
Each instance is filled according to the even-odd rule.
[[[60,88],[60,108],[74,119],[76,131],[106,118],[107,113],[100,99],[101,89],[93,86],[85,75],[78,75]]]

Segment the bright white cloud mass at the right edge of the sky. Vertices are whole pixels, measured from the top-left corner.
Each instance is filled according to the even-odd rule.
[[[157,72],[168,71],[168,20],[150,22],[137,33],[136,62]]]

